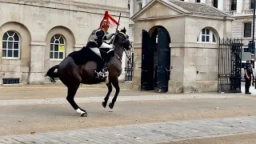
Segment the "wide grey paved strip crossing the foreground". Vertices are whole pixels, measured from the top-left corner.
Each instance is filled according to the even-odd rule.
[[[158,143],[187,138],[256,133],[256,117],[115,126],[0,137],[2,143]]]

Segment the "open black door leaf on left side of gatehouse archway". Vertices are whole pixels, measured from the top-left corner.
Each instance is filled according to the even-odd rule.
[[[154,90],[154,50],[150,34],[142,30],[141,90]]]

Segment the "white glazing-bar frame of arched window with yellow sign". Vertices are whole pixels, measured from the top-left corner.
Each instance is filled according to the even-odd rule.
[[[59,36],[59,38],[57,39],[55,36]],[[52,38],[54,38],[54,42],[51,42]],[[63,43],[60,43],[60,38],[63,38]],[[56,41],[58,41],[59,43],[56,43]],[[65,38],[62,36],[62,34],[54,34],[54,36],[52,36],[50,38],[50,48],[53,45],[53,50],[50,50],[50,53],[53,53],[53,58],[50,58],[51,61],[62,61],[65,58],[65,52],[66,52],[66,41]],[[54,50],[54,46],[58,45],[58,51]],[[59,46],[64,46],[63,51],[59,50]],[[58,58],[54,58],[54,52],[58,52]],[[63,53],[63,58],[59,58],[59,54],[60,52]],[[49,53],[49,54],[50,54]]]

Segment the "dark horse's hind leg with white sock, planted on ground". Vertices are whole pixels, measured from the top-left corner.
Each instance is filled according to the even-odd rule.
[[[86,110],[82,110],[75,102],[74,102],[74,95],[77,93],[78,86],[69,86],[67,89],[67,97],[66,100],[70,102],[70,105],[78,112],[78,114],[81,114],[81,117],[87,117]]]

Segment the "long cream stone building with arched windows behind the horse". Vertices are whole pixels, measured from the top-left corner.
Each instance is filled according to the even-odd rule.
[[[0,0],[0,84],[46,82],[50,66],[85,46],[106,10],[117,20],[121,12],[128,29],[127,0]]]

